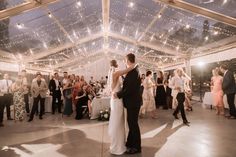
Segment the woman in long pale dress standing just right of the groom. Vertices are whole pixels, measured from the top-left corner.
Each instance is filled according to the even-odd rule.
[[[154,113],[156,110],[154,93],[153,93],[154,86],[155,84],[152,82],[152,72],[147,71],[146,78],[143,81],[144,90],[142,94],[143,105],[141,106],[140,109],[141,117],[143,117],[146,114],[146,112],[149,112],[152,118],[156,118]]]

